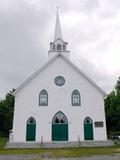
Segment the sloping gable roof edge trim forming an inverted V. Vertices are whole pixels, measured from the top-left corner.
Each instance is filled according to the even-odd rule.
[[[69,63],[81,76],[83,76],[86,80],[88,80],[103,96],[106,95],[103,89],[101,89],[93,80],[91,80],[85,73],[83,73],[71,60],[65,57],[61,52],[58,52],[56,55],[50,58],[41,68],[39,68],[29,78],[27,78],[20,86],[18,86],[13,95],[18,93],[24,86],[26,86],[32,79],[34,79],[49,64],[51,64],[55,59],[57,59],[58,56],[61,56],[67,63]]]

